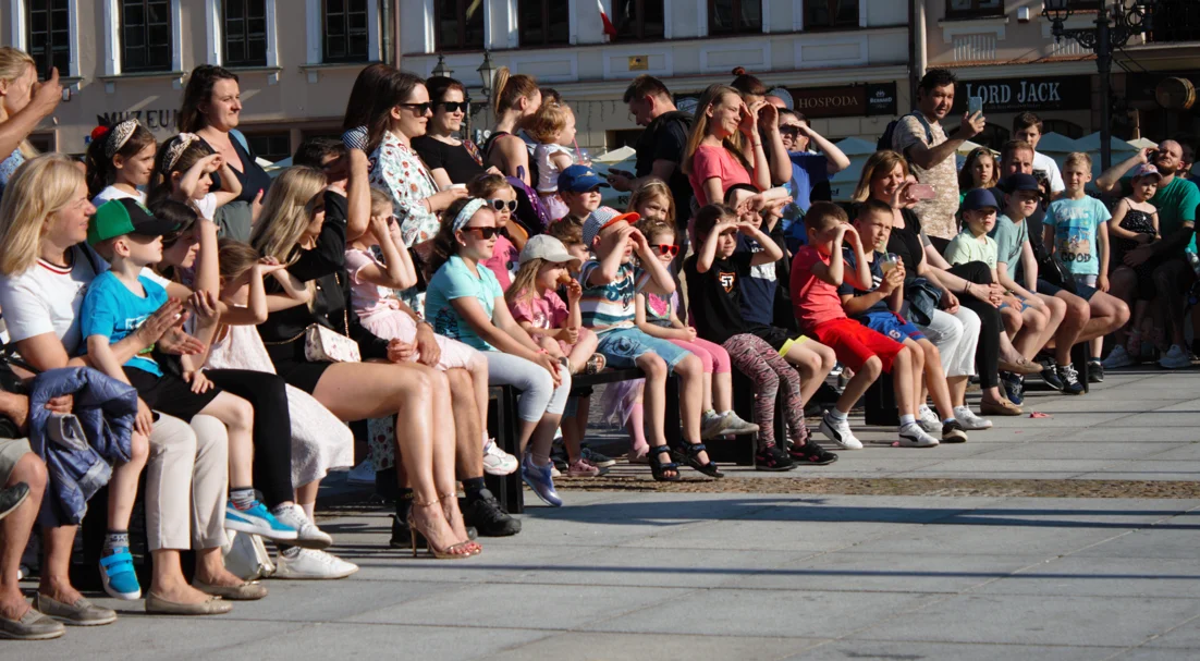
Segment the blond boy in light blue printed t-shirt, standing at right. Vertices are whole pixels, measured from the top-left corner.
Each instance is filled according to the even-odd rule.
[[[1067,190],[1046,209],[1042,221],[1043,242],[1076,284],[1108,292],[1109,220],[1112,214],[1104,203],[1084,192],[1084,186],[1092,180],[1092,157],[1081,151],[1067,156],[1062,178]],[[1090,362],[1099,363],[1103,347],[1103,337],[1088,343]]]

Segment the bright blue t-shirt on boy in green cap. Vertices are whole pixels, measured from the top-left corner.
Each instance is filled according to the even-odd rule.
[[[115,344],[138,330],[143,322],[167,302],[167,290],[162,286],[148,277],[139,277],[138,282],[145,289],[145,296],[130,292],[113,271],[104,271],[91,281],[83,307],[79,308],[83,353],[88,353],[89,337],[102,335],[108,338],[109,344]],[[149,354],[133,356],[125,366],[156,377],[162,375],[158,363]]]

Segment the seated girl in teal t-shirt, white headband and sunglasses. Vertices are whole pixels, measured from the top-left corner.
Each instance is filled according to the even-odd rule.
[[[499,230],[487,202],[468,198],[446,210],[433,240],[437,269],[425,293],[425,318],[438,335],[458,339],[484,353],[492,385],[522,392],[520,447],[529,445],[521,476],[542,501],[563,504],[551,477],[550,446],[554,441],[571,375],[512,318],[496,276],[480,264],[492,257]],[[530,444],[532,440],[532,444]]]

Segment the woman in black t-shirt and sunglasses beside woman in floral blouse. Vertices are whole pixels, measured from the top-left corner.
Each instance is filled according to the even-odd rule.
[[[467,184],[484,174],[484,155],[470,142],[455,137],[462,131],[462,120],[470,112],[467,91],[462,83],[445,76],[425,82],[433,101],[433,119],[425,127],[425,134],[413,138],[413,149],[421,156],[433,175],[439,190],[451,184]]]

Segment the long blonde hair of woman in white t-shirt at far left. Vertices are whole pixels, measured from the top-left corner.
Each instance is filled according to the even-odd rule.
[[[83,170],[62,154],[17,168],[0,202],[0,274],[19,276],[37,264],[47,218],[68,206],[83,182]]]

